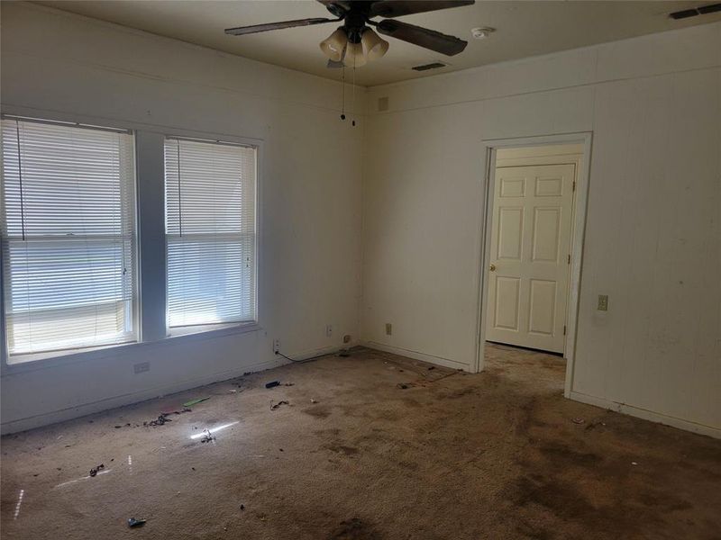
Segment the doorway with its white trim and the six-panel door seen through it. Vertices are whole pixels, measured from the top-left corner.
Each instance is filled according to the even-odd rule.
[[[590,133],[485,141],[479,370],[487,345],[567,359],[570,388]]]

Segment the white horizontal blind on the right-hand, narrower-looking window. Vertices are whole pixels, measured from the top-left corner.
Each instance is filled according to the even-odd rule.
[[[166,139],[168,326],[256,318],[256,150]]]

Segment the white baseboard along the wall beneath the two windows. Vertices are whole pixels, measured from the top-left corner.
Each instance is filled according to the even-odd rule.
[[[342,347],[332,346],[314,350],[307,350],[292,355],[292,358],[297,360],[306,360],[307,358],[311,358],[314,356],[329,355],[335,353],[341,350],[341,348]],[[105,400],[83,403],[81,405],[68,407],[68,409],[55,410],[32,417],[11,420],[0,425],[0,433],[2,435],[7,435],[10,433],[17,433],[18,431],[25,431],[27,429],[41,428],[42,426],[49,426],[50,424],[56,424],[58,422],[64,422],[66,420],[78,419],[89,414],[95,414],[96,412],[116,409],[125,405],[140,403],[141,401],[154,400],[156,398],[160,398],[162,396],[167,396],[169,394],[177,392],[185,392],[192,388],[205,386],[206,384],[220,383],[221,381],[227,381],[228,379],[240,377],[242,374],[248,372],[265,371],[267,369],[272,369],[274,367],[287,364],[290,364],[290,362],[287,361],[285,358],[281,356],[275,356],[271,360],[256,362],[250,365],[242,365],[232,370],[217,372],[214,374],[205,375],[203,377],[196,377],[194,379],[187,379],[186,381],[182,381],[179,383],[155,386],[138,392],[130,392],[119,396],[114,396]]]

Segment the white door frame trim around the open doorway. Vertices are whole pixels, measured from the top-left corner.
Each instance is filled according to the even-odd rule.
[[[481,144],[486,158],[486,170],[483,188],[483,207],[485,217],[479,220],[480,260],[478,275],[478,316],[476,359],[472,372],[483,370],[485,363],[486,318],[488,303],[488,265],[490,264],[490,240],[493,231],[493,193],[496,185],[496,152],[500,148],[524,148],[557,144],[581,144],[583,155],[576,175],[576,192],[573,202],[573,220],[570,240],[570,279],[569,300],[567,305],[566,343],[563,356],[566,358],[566,382],[563,394],[570,396],[573,381],[574,359],[576,356],[576,338],[578,332],[579,295],[581,280],[581,262],[583,240],[586,235],[586,214],[589,202],[589,176],[591,163],[591,143],[593,133],[559,133],[538,137],[520,137],[508,139],[484,139]]]

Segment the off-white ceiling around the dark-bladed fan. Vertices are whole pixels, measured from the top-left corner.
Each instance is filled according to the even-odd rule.
[[[318,43],[333,31],[332,23],[227,36],[224,28],[275,23],[306,17],[332,17],[314,0],[188,1],[188,0],[63,0],[41,1],[61,10],[224,50],[246,58],[290,67],[306,73],[340,78],[340,70],[325,67]],[[483,66],[558,50],[575,49],[656,31],[721,21],[721,13],[673,21],[668,14],[712,2],[693,1],[478,1],[475,5],[399,20],[468,40],[468,48],[443,57],[403,41],[390,41],[380,58],[356,70],[360,85],[382,85],[418,76]],[[487,40],[473,40],[470,29],[496,28]],[[410,68],[434,61],[451,65],[424,74]]]

